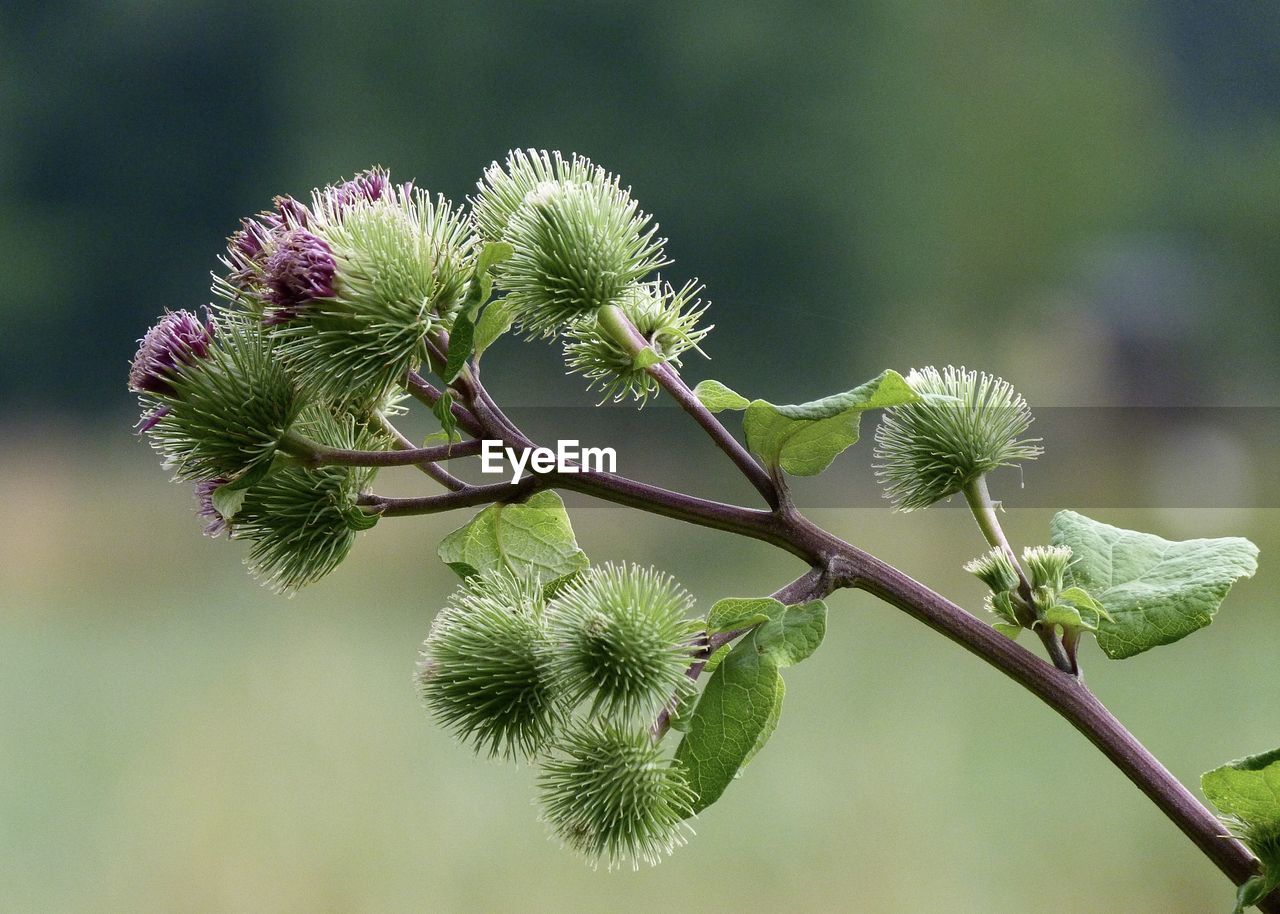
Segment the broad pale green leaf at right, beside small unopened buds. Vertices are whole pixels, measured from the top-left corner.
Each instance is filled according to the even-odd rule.
[[[1055,545],[1071,547],[1068,582],[1105,607],[1097,639],[1111,659],[1172,644],[1213,621],[1226,593],[1257,571],[1247,539],[1170,541],[1121,530],[1074,511],[1051,524]]]

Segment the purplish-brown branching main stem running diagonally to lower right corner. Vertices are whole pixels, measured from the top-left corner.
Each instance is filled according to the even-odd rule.
[[[818,527],[794,507],[778,507],[777,486],[759,463],[728,435],[714,416],[701,407],[701,403],[698,403],[696,397],[692,397],[689,388],[678,380],[673,371],[669,371],[668,366],[654,367],[666,369],[654,376],[712,434],[722,449],[733,457],[735,463],[748,477],[755,481],[755,471],[764,476],[764,485],[758,484],[756,488],[760,489],[762,494],[769,493],[769,511],[723,504],[602,472],[532,475],[526,476],[516,485],[508,483],[481,486],[465,485],[457,492],[426,498],[365,495],[361,498],[361,503],[370,511],[384,516],[434,513],[492,502],[517,501],[538,489],[559,488],[771,543],[809,565],[809,570],[804,575],[774,594],[777,599],[788,604],[800,603],[827,597],[842,588],[851,588],[864,590],[897,607],[969,653],[982,658],[1064,717],[1142,790],[1236,886],[1258,872],[1258,862],[1249,850],[1228,835],[1222,823],[1170,774],[1074,675],[1056,636],[1046,640],[1050,655],[1055,661],[1055,663],[1047,663],[893,566]],[[439,398],[439,393],[430,384],[415,375],[408,378],[407,384],[408,389],[425,402],[434,403]],[[525,445],[531,444],[530,439],[492,402],[476,375],[467,379],[466,388],[465,396],[470,410],[454,406],[456,416],[460,416],[460,425],[462,419],[466,419],[468,424],[474,424],[474,430],[468,428],[474,435],[515,440]],[[677,392],[687,392],[687,399],[691,403],[686,405],[682,394]],[[727,442],[732,442],[732,444]],[[749,467],[754,467],[754,470]],[[966,489],[965,497],[974,509],[974,517],[987,541],[993,548],[1009,552],[1016,567],[1016,557],[1014,557],[1004,535],[986,485]],[[1025,575],[1020,572],[1020,576],[1023,586],[1028,590],[1029,603],[1029,585]],[[735,631],[710,639],[704,637],[687,669],[687,676],[696,678],[703,672],[707,659],[718,646],[728,644],[742,634],[742,631]],[[1062,668],[1064,666],[1068,668]],[[669,726],[669,708],[664,709],[654,723],[655,736],[660,736]],[[1280,914],[1280,892],[1274,892],[1260,901],[1257,906],[1263,914]]]

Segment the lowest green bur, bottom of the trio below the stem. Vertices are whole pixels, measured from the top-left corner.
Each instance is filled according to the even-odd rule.
[[[543,818],[570,847],[608,867],[654,865],[687,841],[694,791],[646,727],[593,721],[562,734],[538,778]]]

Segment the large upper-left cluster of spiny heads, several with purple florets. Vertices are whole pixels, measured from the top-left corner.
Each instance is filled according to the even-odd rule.
[[[433,365],[460,312],[475,320],[490,282],[518,328],[563,333],[570,371],[614,398],[645,401],[657,390],[645,369],[678,365],[705,335],[700,287],[650,275],[667,262],[663,239],[604,169],[517,151],[477,188],[468,211],[372,168],[306,201],[275,197],[228,239],[218,303],[165,312],[140,341],[140,431],[196,484],[206,533],[252,540],[250,563],[275,586],[326,573],[371,522],[356,506],[371,474],[289,463],[298,424],[325,445],[387,445],[379,413],[407,373]],[[479,277],[490,243],[509,257]],[[646,341],[643,357],[596,321],[612,306]]]

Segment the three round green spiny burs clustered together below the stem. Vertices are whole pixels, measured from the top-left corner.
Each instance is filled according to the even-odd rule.
[[[475,575],[436,616],[417,682],[477,753],[539,766],[544,818],[566,845],[653,864],[685,842],[695,799],[650,731],[691,689],[691,608],[637,566],[590,568],[554,595],[532,576]]]

